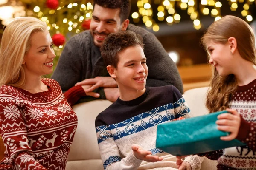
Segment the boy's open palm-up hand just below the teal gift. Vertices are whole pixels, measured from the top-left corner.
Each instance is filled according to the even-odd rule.
[[[138,144],[133,144],[131,149],[133,150],[133,154],[137,159],[147,162],[157,162],[163,160],[163,158],[151,155],[152,153],[150,151],[142,149]]]

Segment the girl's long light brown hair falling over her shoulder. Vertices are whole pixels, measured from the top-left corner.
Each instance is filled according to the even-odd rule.
[[[207,42],[225,44],[228,38],[234,37],[241,57],[256,65],[255,37],[252,28],[239,17],[227,15],[212,23],[201,39],[207,51]],[[207,51],[208,56],[210,55]],[[235,69],[235,68],[234,68]],[[221,77],[214,68],[210,83],[211,89],[207,94],[206,107],[209,112],[221,111],[229,108],[228,104],[236,91],[237,82],[233,74]]]

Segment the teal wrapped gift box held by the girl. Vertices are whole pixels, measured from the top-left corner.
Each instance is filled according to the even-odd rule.
[[[221,113],[228,112],[219,111],[157,125],[156,147],[174,156],[185,156],[245,145],[237,139],[220,139],[229,135],[217,129],[215,122]]]

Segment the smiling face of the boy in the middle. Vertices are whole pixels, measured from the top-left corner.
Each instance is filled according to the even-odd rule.
[[[114,69],[115,79],[119,87],[120,98],[122,93],[134,94],[135,98],[145,92],[148,66],[143,49],[140,46],[131,46],[118,54],[119,62]],[[134,98],[134,99],[135,99]]]

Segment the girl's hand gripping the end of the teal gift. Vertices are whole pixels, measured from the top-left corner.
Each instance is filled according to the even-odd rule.
[[[218,120],[216,121],[216,124],[218,125],[218,130],[224,131],[224,132],[230,132],[229,136],[221,136],[221,140],[223,141],[231,141],[233,139],[236,139],[241,118],[239,113],[237,113],[235,110],[227,109],[230,113],[223,113],[218,115]]]

